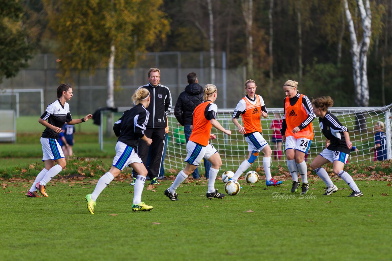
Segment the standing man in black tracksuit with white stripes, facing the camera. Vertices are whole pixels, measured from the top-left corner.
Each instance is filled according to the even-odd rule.
[[[159,171],[161,169],[163,147],[165,146],[165,128],[167,126],[167,114],[171,109],[171,94],[169,88],[160,84],[161,71],[158,68],[151,68],[148,72],[149,83],[140,87],[149,90],[151,95],[150,105],[146,108],[150,113],[149,121],[144,134],[152,139],[150,164],[148,176],[151,184],[159,183]],[[139,87],[139,88],[140,88]],[[143,140],[138,145],[138,155],[142,158],[143,164],[147,162],[149,146]],[[147,167],[147,166],[146,166]],[[136,173],[133,173],[135,177]]]

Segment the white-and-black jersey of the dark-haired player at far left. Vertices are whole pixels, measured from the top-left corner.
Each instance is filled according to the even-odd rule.
[[[41,115],[43,121],[48,121],[49,124],[56,126],[58,128],[63,128],[65,122],[72,121],[71,113],[69,112],[68,103],[61,104],[60,100],[57,100],[49,104]],[[58,140],[58,133],[52,129],[46,128],[42,132],[42,138],[46,139],[56,139]]]

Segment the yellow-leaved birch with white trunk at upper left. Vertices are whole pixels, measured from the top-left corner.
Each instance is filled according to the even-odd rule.
[[[50,26],[56,32],[61,76],[108,68],[107,106],[114,107],[114,67],[135,52],[165,39],[169,22],[160,11],[163,0],[45,0]]]

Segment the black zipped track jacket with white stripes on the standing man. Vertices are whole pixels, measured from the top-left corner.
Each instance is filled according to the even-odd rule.
[[[150,105],[147,110],[151,114],[146,127],[147,128],[166,128],[166,116],[169,114],[172,100],[171,94],[168,87],[158,84],[157,86],[152,86],[150,83],[140,86],[139,88],[146,88],[150,92]]]

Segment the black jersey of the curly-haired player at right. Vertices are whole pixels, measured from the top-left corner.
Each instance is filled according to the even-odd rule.
[[[320,128],[324,136],[329,140],[330,144],[327,149],[332,151],[341,151],[349,154],[350,149],[347,148],[346,139],[343,132],[348,131],[338,118],[330,112],[325,114],[324,118],[319,117]]]

